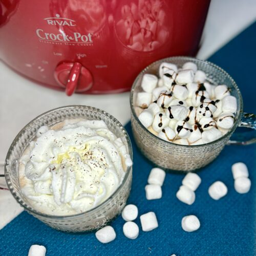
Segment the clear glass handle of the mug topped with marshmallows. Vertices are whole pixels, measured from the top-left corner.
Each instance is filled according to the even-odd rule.
[[[238,125],[239,127],[247,127],[251,128],[253,130],[256,130],[256,115],[254,114],[248,114],[248,113],[243,113],[242,119],[240,124]],[[256,143],[256,136],[255,133],[236,133],[232,135],[232,140],[228,141],[228,145],[235,144],[235,145],[249,145],[252,143]]]

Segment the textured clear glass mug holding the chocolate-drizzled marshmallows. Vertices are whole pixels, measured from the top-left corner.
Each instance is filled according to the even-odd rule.
[[[199,70],[206,73],[207,81],[212,84],[226,84],[231,89],[231,95],[237,98],[238,110],[234,118],[234,124],[230,131],[218,140],[202,145],[179,145],[158,138],[148,131],[139,121],[134,106],[137,93],[142,92],[141,80],[144,74],[155,74],[158,76],[158,69],[162,62],[174,63],[180,68],[185,62],[196,63]],[[170,57],[158,60],[146,67],[133,83],[130,96],[132,131],[135,141],[142,154],[156,165],[180,171],[190,171],[201,168],[213,161],[223,150],[226,144],[250,144],[256,142],[256,138],[248,141],[229,141],[230,136],[237,126],[249,127],[256,130],[256,118],[253,114],[243,113],[243,100],[236,82],[215,64],[190,57]]]

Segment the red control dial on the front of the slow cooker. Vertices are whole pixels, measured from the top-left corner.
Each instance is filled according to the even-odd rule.
[[[93,85],[93,77],[87,68],[79,62],[63,62],[54,71],[55,80],[66,88],[66,94],[88,91]]]

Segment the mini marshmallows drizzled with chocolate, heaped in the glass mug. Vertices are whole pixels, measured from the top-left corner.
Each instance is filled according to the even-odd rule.
[[[227,86],[206,82],[193,62],[178,70],[163,62],[159,76],[144,74],[135,111],[140,122],[159,138],[182,145],[199,145],[225,135],[233,126],[237,99]]]

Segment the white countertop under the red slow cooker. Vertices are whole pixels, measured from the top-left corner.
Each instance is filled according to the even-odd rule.
[[[212,0],[198,58],[209,57],[255,19],[254,0]],[[16,134],[31,119],[50,109],[71,104],[104,109],[122,124],[130,120],[129,93],[67,97],[63,92],[38,86],[0,61],[0,163],[5,160]],[[0,190],[0,229],[22,210],[9,191]]]

